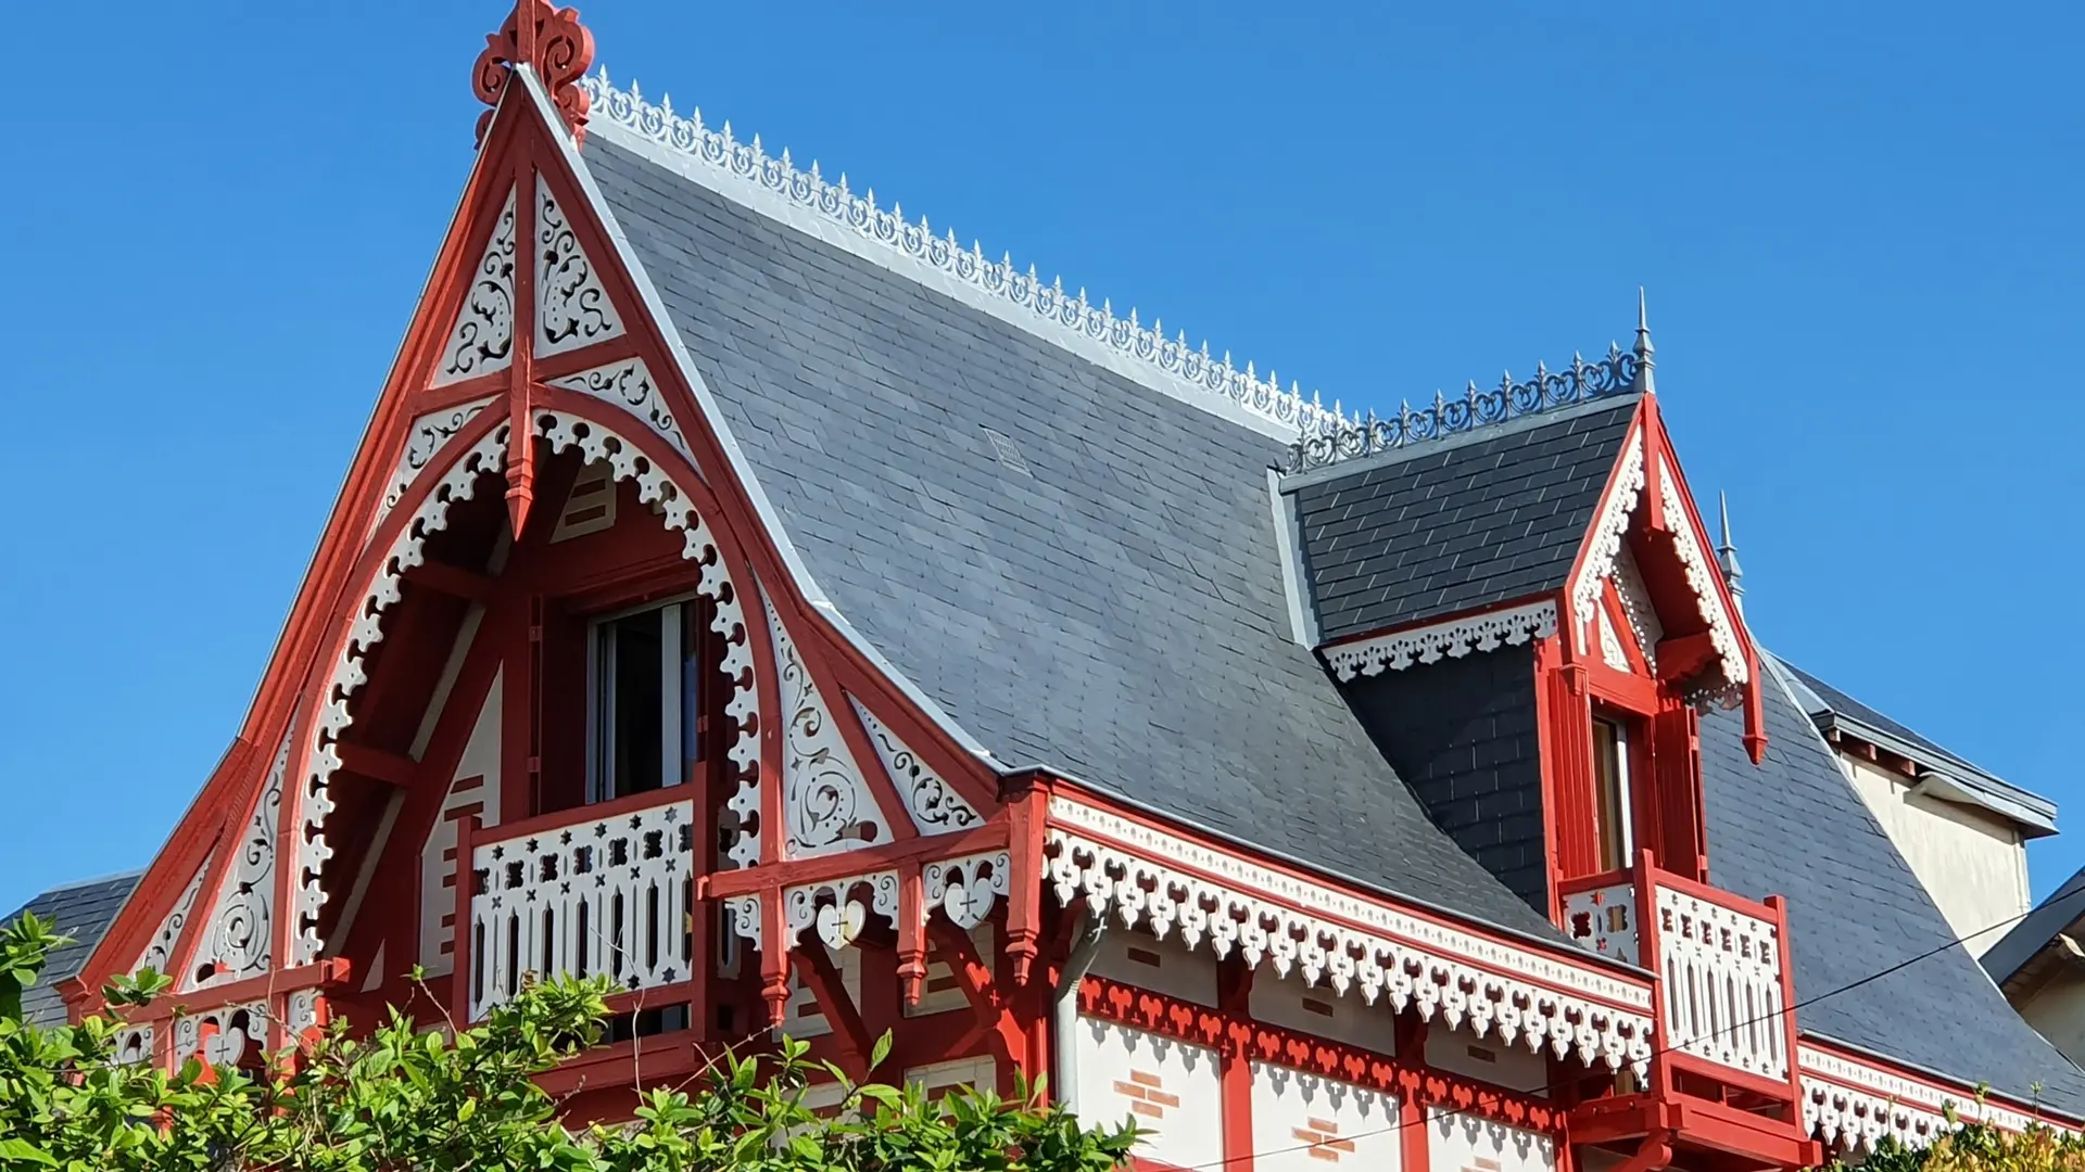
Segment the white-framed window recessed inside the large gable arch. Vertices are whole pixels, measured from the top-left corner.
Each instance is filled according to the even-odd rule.
[[[678,786],[703,759],[709,624],[694,599],[592,624],[588,801]]]

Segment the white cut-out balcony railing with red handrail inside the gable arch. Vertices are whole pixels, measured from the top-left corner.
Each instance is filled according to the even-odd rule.
[[[523,982],[607,976],[626,993],[690,982],[694,801],[663,788],[490,830],[465,826],[457,1007],[480,1020]]]

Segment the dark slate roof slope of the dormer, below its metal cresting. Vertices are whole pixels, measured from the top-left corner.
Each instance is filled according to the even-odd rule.
[[[1564,586],[1639,400],[1603,398],[1299,478],[1318,634],[1339,640]]]

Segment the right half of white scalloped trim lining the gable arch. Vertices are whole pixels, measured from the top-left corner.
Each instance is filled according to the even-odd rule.
[[[761,747],[753,734],[761,701],[759,682],[753,674],[744,592],[732,582],[732,571],[723,563],[723,551],[717,546],[709,521],[694,511],[688,492],[673,484],[673,478],[665,469],[644,459],[644,453],[636,444],[592,419],[573,419],[557,411],[538,411],[534,428],[550,444],[553,453],[578,448],[586,463],[607,463],[615,480],[636,482],[638,500],[655,507],[665,528],[682,534],[682,561],[703,567],[703,576],[694,588],[713,603],[715,617],[709,630],[723,636],[723,663],[717,669],[734,680],[732,699],[726,701],[723,715],[730,728],[726,757],[732,763],[732,774],[738,778],[738,788],[732,790],[732,799],[726,805],[738,815],[740,830],[726,855],[740,868],[751,868],[761,861],[761,786],[759,770],[755,767]]]

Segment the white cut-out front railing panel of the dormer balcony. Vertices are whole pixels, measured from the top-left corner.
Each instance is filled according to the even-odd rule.
[[[1685,890],[1655,890],[1666,1036],[1695,1057],[1785,1080],[1779,926]]]

